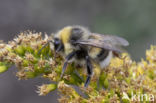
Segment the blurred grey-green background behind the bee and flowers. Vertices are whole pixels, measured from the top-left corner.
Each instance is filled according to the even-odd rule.
[[[156,44],[155,0],[0,0],[0,39],[12,40],[25,30],[48,34],[67,25],[82,25],[92,32],[116,34],[130,42],[133,60],[145,58]],[[15,69],[0,74],[0,103],[55,103],[57,93],[39,97],[36,78],[18,81]]]

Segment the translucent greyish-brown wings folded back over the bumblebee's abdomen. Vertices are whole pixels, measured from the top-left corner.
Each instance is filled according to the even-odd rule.
[[[128,46],[129,43],[124,38],[114,35],[102,35],[93,33],[87,40],[79,40],[76,42],[80,45],[89,45],[116,52],[122,52],[121,46]]]

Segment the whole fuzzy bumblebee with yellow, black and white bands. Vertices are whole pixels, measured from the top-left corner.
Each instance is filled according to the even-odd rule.
[[[85,87],[88,86],[93,74],[92,62],[96,62],[101,68],[105,68],[113,55],[118,56],[122,52],[122,46],[129,45],[124,38],[92,33],[82,26],[64,27],[54,35],[52,44],[55,52],[65,57],[61,78],[69,62],[86,65]]]

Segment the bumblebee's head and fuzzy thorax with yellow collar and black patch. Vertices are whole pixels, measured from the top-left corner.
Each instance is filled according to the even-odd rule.
[[[64,51],[65,54],[75,49],[74,42],[88,36],[88,30],[81,26],[66,26],[54,36],[54,48],[56,52]]]

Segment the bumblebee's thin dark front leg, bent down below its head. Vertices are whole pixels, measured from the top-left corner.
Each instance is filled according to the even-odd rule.
[[[65,58],[65,62],[64,62],[64,65],[63,65],[63,68],[62,68],[62,73],[61,73],[61,78],[63,77],[63,74],[67,68],[67,65],[68,65],[68,61],[75,55],[75,51],[71,52],[70,54],[68,54]]]

